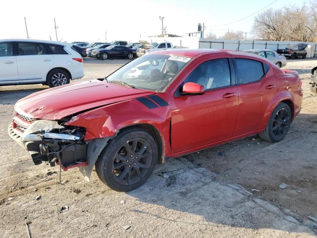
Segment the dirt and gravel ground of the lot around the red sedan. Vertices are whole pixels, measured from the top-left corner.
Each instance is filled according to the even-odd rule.
[[[86,76],[76,81],[128,60],[84,62]],[[283,141],[254,136],[171,159],[129,193],[110,190],[96,173],[87,183],[77,169],[62,172],[59,185],[57,167],[33,166],[6,130],[15,102],[47,86],[0,87],[0,237],[27,237],[25,222],[32,237],[315,237],[307,216],[317,217],[317,94],[308,84],[316,65],[285,67],[300,72],[304,101]]]

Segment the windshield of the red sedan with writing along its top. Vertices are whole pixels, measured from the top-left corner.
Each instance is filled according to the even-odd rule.
[[[161,92],[191,58],[174,55],[145,55],[127,63],[106,79],[127,87]]]

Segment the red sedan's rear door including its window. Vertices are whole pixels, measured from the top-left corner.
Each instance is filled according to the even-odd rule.
[[[264,114],[277,93],[277,82],[268,64],[256,59],[234,58],[234,65],[239,107],[233,136],[239,136],[263,129]]]

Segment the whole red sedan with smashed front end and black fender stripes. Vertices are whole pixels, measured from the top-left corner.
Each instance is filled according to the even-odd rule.
[[[93,167],[129,191],[157,163],[246,136],[282,140],[302,104],[296,71],[245,53],[166,50],[103,80],[47,89],[19,100],[8,128],[35,164]]]

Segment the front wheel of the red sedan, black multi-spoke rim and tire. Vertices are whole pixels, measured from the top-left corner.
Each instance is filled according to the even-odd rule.
[[[158,157],[154,138],[141,129],[126,129],[111,140],[96,162],[96,172],[108,187],[131,191],[151,176]]]

